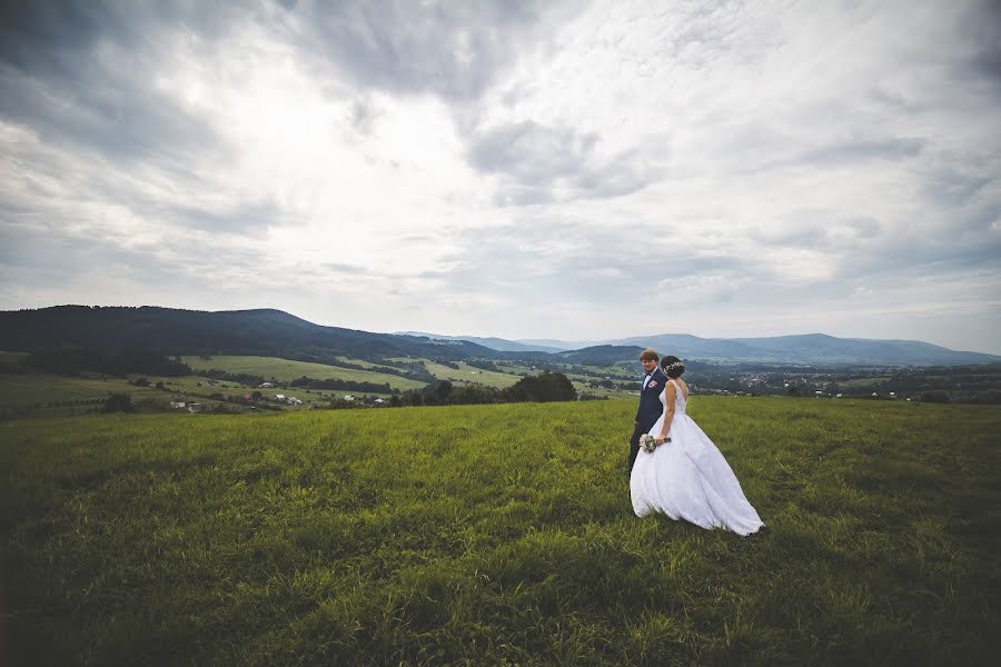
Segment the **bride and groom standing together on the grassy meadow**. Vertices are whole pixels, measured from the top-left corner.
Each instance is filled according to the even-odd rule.
[[[637,517],[662,512],[703,528],[751,535],[764,526],[736,476],[698,425],[685,415],[688,386],[677,357],[643,350],[646,377],[630,440],[630,494]],[[651,436],[650,438],[644,436]],[[641,448],[646,440],[651,451]],[[655,447],[653,447],[655,445]]]

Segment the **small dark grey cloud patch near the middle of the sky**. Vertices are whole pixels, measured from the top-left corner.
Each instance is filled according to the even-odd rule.
[[[568,198],[609,198],[644,188],[654,175],[643,172],[625,153],[601,159],[598,136],[572,128],[524,121],[482,132],[472,139],[469,162],[479,171],[505,180],[499,203],[545,203],[557,188]]]

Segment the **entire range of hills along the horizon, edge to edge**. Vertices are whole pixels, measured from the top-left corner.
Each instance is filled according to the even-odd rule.
[[[0,350],[60,346],[150,349],[166,355],[260,355],[338,361],[425,358],[524,359],[569,364],[635,362],[650,347],[686,360],[715,364],[854,366],[962,366],[1001,357],[950,350],[918,340],[866,340],[823,334],[773,338],[698,338],[660,334],[617,340],[568,342],[434,334],[374,334],[325,327],[274,309],[206,312],[143,306],[57,306],[0,311]],[[579,346],[579,347],[576,347]]]

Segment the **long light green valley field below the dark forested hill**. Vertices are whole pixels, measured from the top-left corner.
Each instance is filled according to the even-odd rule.
[[[279,359],[277,357],[218,356],[208,360],[201,359],[200,357],[184,357],[182,359],[185,364],[190,366],[191,370],[195,371],[217,368],[227,372],[257,375],[265,379],[275,378],[283,382],[307,376],[320,380],[336,378],[338,380],[375,382],[377,385],[389,382],[390,387],[400,390],[419,389],[425,386],[425,382],[402,378],[395,375],[368,370],[355,370],[351,368],[341,368],[339,366],[327,366],[325,364],[310,364],[308,361],[293,361],[290,359]]]

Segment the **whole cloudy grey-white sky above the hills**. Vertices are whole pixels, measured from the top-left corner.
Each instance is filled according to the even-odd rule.
[[[1001,3],[0,3],[0,309],[1001,354]]]

